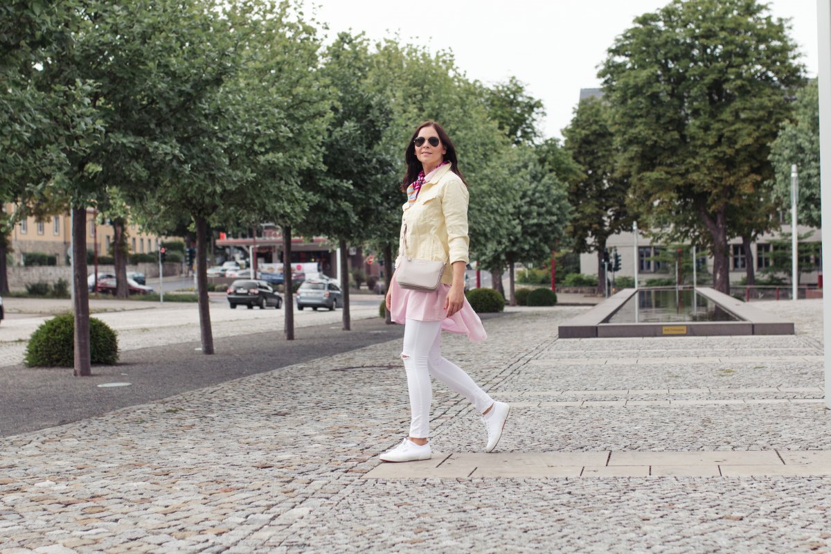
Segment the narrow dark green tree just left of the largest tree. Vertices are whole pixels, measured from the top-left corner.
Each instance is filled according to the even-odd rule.
[[[580,101],[563,135],[566,150],[583,169],[583,178],[568,187],[575,212],[568,235],[574,252],[597,252],[597,288],[605,294],[607,240],[630,228],[633,219],[627,208],[629,181],[617,169],[612,107],[598,98]]]

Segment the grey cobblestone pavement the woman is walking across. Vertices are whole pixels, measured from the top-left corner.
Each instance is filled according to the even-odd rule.
[[[755,306],[798,334],[558,341],[585,308],[555,307],[443,351],[499,398],[581,402],[512,409],[504,456],[831,450],[821,302]],[[366,478],[409,423],[400,348],[0,439],[0,552],[831,551],[831,478]],[[478,415],[440,384],[432,416],[436,452],[481,451]]]

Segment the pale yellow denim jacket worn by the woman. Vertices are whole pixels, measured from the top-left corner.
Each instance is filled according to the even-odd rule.
[[[404,204],[398,257],[406,252],[408,256],[422,260],[445,262],[441,282],[453,284],[450,264],[470,261],[469,199],[467,186],[459,175],[450,171],[450,164],[441,166],[428,183],[421,185],[416,202]]]

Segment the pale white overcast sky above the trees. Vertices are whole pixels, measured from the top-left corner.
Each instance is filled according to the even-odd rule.
[[[430,51],[450,49],[470,79],[493,84],[516,76],[545,105],[545,137],[562,136],[581,88],[600,86],[597,65],[632,18],[668,0],[304,0],[329,34],[364,31]],[[790,18],[809,76],[817,73],[816,0],[769,2]]]

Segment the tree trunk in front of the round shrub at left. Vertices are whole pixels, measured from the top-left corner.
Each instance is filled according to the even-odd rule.
[[[72,287],[75,291],[75,375],[92,375],[90,292],[86,282],[86,208],[72,208]]]

